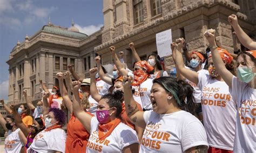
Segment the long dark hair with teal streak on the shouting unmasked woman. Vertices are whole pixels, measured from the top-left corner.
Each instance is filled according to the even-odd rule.
[[[154,83],[159,84],[166,92],[171,93],[180,109],[186,110],[193,115],[196,114],[194,112],[193,87],[189,84],[181,81],[178,82],[172,77],[160,77],[154,79]],[[185,98],[187,99],[187,103],[184,100]]]

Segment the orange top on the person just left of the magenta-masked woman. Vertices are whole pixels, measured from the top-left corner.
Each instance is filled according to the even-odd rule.
[[[93,116],[90,112],[87,114]],[[85,152],[90,133],[84,128],[83,124],[77,119],[74,113],[67,125],[66,149],[65,152]]]

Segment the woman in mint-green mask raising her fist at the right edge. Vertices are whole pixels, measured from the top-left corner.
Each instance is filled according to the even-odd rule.
[[[237,104],[234,152],[255,152],[256,78],[254,75],[256,73],[256,51],[246,51],[238,54],[238,77],[235,77],[226,69],[217,52],[214,34],[207,30],[205,37],[211,47],[213,63],[220,76],[231,88],[231,95]]]

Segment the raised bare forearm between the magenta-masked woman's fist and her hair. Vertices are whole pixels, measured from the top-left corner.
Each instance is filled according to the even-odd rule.
[[[95,101],[99,102],[99,100],[102,98],[102,95],[99,94],[98,89],[96,87],[95,74],[97,73],[97,68],[91,68],[89,72],[91,77],[90,93],[92,98]]]

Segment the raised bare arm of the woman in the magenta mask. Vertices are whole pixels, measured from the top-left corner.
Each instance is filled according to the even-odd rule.
[[[91,119],[92,116],[85,113],[81,101],[79,99],[78,89],[81,86],[80,81],[73,81],[73,112],[75,113],[77,119],[83,124],[87,131],[91,131]]]

